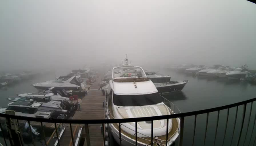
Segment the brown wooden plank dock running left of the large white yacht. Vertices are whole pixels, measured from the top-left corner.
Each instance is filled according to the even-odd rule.
[[[83,98],[82,103],[80,104],[80,110],[76,111],[72,119],[104,119],[105,112],[103,107],[103,101],[105,96],[102,95],[102,91],[98,90],[100,78],[93,83],[93,86],[88,90],[88,95]],[[66,124],[66,129],[60,138],[61,146],[73,146],[71,140],[71,130],[69,124]],[[77,131],[82,127],[81,141],[84,146],[86,146],[85,138],[85,125],[72,124],[72,131],[74,134],[74,141],[77,138]],[[100,129],[101,124],[89,124],[89,138],[91,146],[102,146],[103,145],[103,136]],[[77,128],[76,128],[77,127]],[[75,128],[77,131],[75,131]]]

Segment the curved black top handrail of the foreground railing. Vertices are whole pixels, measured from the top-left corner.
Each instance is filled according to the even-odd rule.
[[[187,117],[192,115],[200,115],[204,113],[211,113],[214,111],[221,111],[223,109],[228,109],[232,107],[237,107],[239,105],[244,105],[246,103],[251,103],[256,101],[256,98],[249,99],[246,101],[241,101],[238,103],[233,103],[230,105],[224,105],[221,107],[214,107],[210,109],[203,109],[199,111],[190,111],[187,113],[178,113],[173,115],[161,115],[161,116],[153,116],[153,117],[136,117],[136,118],[126,118],[126,119],[43,119],[43,118],[35,118],[35,117],[23,117],[17,115],[7,115],[4,113],[0,113],[0,117],[6,117],[11,119],[19,119],[26,121],[36,121],[36,122],[46,122],[46,123],[71,123],[71,124],[100,124],[100,123],[127,123],[127,122],[139,122],[139,121],[154,121],[160,119],[172,119],[177,117]]]

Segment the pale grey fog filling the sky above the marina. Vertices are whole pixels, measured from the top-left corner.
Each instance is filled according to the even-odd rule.
[[[0,71],[85,64],[248,64],[256,4],[246,0],[1,1]]]

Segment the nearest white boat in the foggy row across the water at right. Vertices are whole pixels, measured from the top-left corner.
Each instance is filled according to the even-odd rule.
[[[240,78],[245,78],[246,75],[250,75],[250,72],[247,71],[247,68],[236,68],[233,71],[227,72],[226,76],[229,79],[240,79]]]

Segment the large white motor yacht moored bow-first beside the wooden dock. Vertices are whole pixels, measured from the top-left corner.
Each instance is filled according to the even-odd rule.
[[[151,117],[175,114],[158,94],[154,83],[147,78],[144,70],[136,66],[113,68],[106,98],[106,119]],[[169,102],[170,103],[170,102]],[[155,120],[153,145],[170,146],[179,136],[180,119],[169,119],[168,140],[167,120]],[[137,122],[137,145],[151,144],[151,121]],[[111,123],[110,131],[119,142],[119,124]],[[121,123],[122,145],[135,145],[135,123]]]

